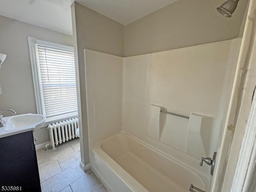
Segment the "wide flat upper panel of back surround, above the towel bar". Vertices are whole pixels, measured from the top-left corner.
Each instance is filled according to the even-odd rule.
[[[231,45],[228,40],[152,54],[150,103],[185,116],[219,117]]]

